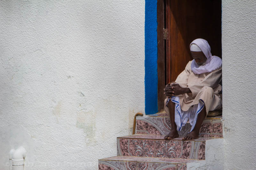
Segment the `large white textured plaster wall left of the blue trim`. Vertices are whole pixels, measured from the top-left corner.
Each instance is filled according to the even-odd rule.
[[[31,144],[26,169],[116,155],[145,113],[144,18],[141,0],[1,1],[0,169],[16,140]]]

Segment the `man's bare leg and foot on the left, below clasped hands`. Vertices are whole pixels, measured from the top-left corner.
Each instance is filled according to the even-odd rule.
[[[179,137],[178,131],[177,131],[177,125],[175,123],[175,103],[173,103],[171,100],[168,102],[168,109],[170,114],[170,120],[171,120],[171,131],[168,135],[164,137],[166,140],[170,140],[176,137]]]

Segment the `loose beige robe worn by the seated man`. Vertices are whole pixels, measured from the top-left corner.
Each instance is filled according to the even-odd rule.
[[[187,111],[192,105],[198,104],[199,99],[204,101],[206,114],[212,110],[220,110],[222,108],[222,99],[219,94],[222,89],[220,85],[221,67],[210,73],[194,74],[191,70],[191,62],[188,62],[185,70],[180,73],[175,82],[171,82],[189,88],[192,92],[177,95],[180,98],[181,110]],[[166,107],[167,99],[164,100],[164,110],[169,113],[169,109]]]

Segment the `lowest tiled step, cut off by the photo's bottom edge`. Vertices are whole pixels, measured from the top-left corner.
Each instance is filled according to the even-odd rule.
[[[99,159],[99,170],[186,170],[188,163],[197,162],[200,161],[194,159],[113,156]]]

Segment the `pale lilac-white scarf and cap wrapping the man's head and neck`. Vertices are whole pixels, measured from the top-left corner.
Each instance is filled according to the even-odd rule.
[[[194,49],[198,50],[198,48],[196,48],[194,46],[194,44],[197,47],[199,47],[201,51],[203,51],[204,55],[207,58],[205,64],[201,65],[201,66],[196,63],[195,59],[192,60],[191,70],[193,71],[194,74],[211,72],[211,71],[216,70],[221,67],[221,65],[222,65],[221,58],[217,57],[215,55],[212,56],[211,47],[206,40],[204,40],[202,38],[198,38],[198,39],[192,41],[190,43],[190,51],[194,51]],[[193,50],[191,50],[191,48]]]

